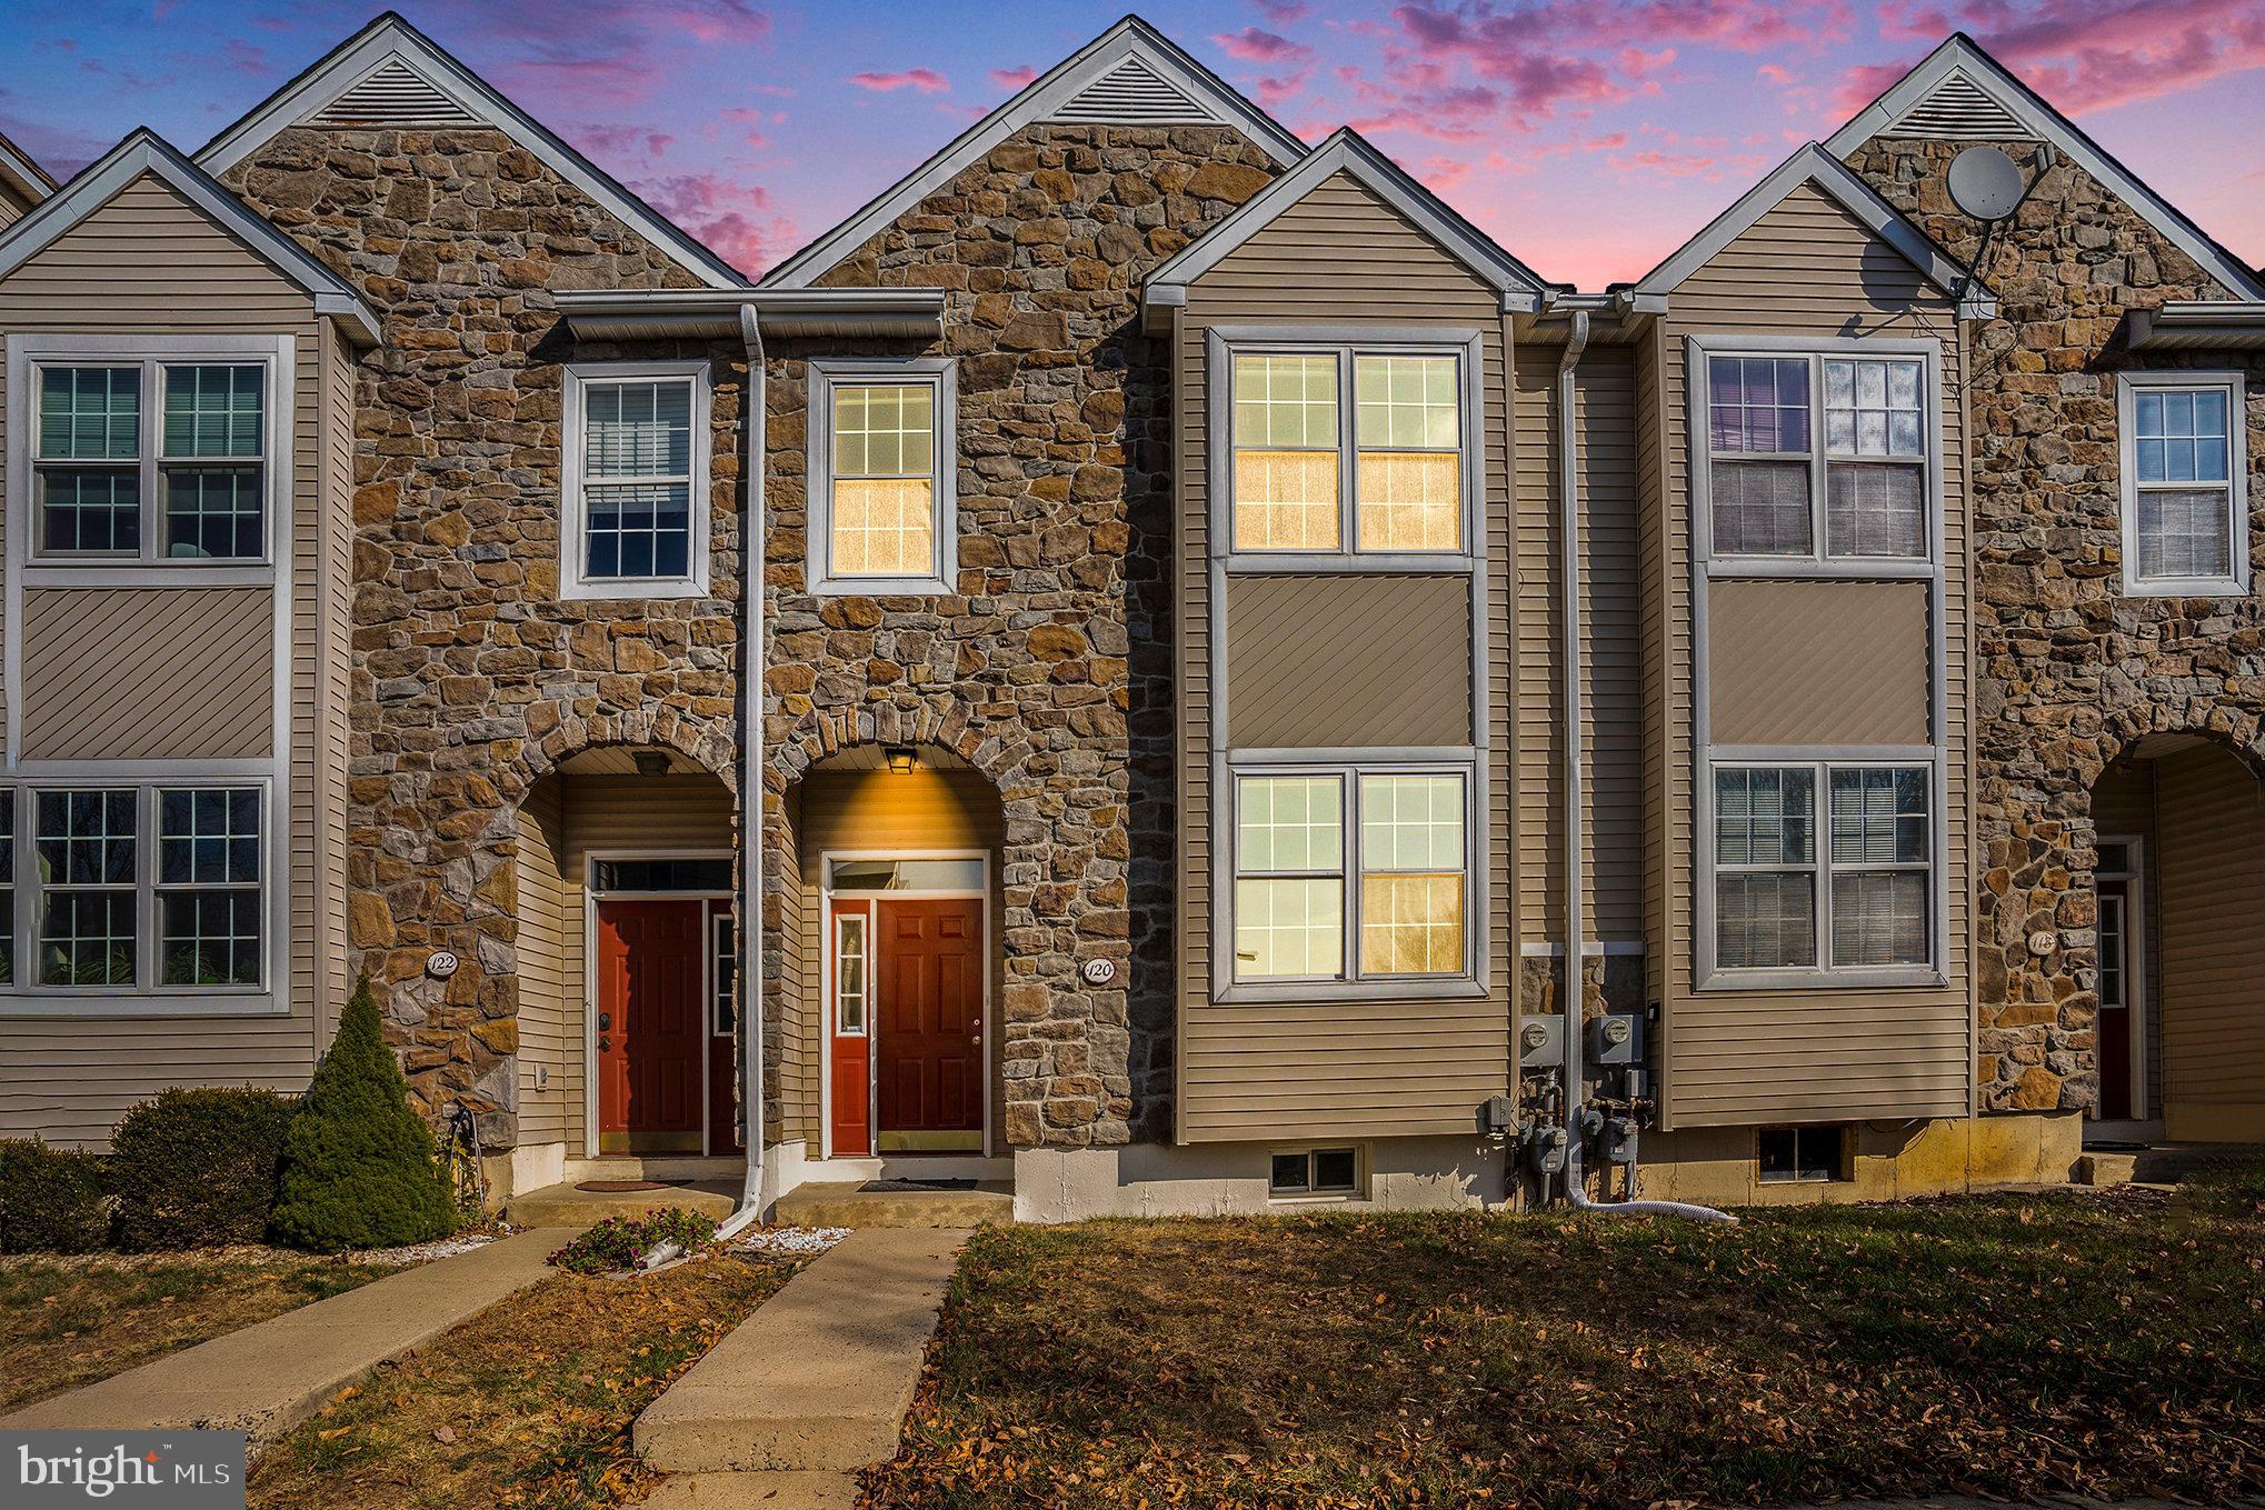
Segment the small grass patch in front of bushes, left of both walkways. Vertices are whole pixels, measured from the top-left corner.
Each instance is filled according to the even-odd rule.
[[[0,1413],[399,1268],[267,1247],[0,1259]]]

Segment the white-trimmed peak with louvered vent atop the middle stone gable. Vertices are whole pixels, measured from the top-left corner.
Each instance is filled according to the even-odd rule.
[[[942,152],[881,190],[768,274],[766,288],[809,288],[865,240],[942,188],[1001,140],[1040,120],[1069,125],[1228,125],[1266,149],[1277,165],[1305,156],[1305,143],[1243,100],[1210,68],[1182,52],[1139,16],[1126,16],[1035,77],[1006,104],[960,131]]]

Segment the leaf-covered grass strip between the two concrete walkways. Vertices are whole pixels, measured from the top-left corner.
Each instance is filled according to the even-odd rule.
[[[270,1444],[256,1510],[614,1505],[657,1478],[636,1413],[797,1263],[707,1256],[648,1279],[553,1275],[383,1365]]]

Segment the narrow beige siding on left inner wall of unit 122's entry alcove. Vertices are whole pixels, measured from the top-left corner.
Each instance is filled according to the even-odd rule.
[[[564,1143],[582,1121],[584,1044],[580,1001],[566,1001],[566,960],[582,935],[566,926],[566,779],[537,781],[519,804],[519,1141]],[[548,1071],[548,1084],[537,1084]],[[580,1155],[580,1139],[569,1148]]]

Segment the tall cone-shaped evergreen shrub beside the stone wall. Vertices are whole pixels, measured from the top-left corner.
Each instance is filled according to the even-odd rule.
[[[448,1236],[455,1200],[433,1157],[433,1130],[378,1028],[362,976],[337,1019],[283,1139],[283,1189],[272,1222],[292,1247],[335,1254]]]

